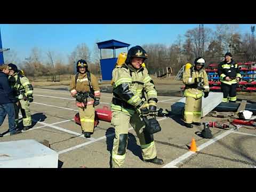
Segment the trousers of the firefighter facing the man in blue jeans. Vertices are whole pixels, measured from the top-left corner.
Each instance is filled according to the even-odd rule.
[[[21,111],[23,126],[31,126],[31,114],[29,109],[29,102],[23,99],[19,100],[19,106],[14,105],[15,109],[15,123],[19,123],[19,110]]]

